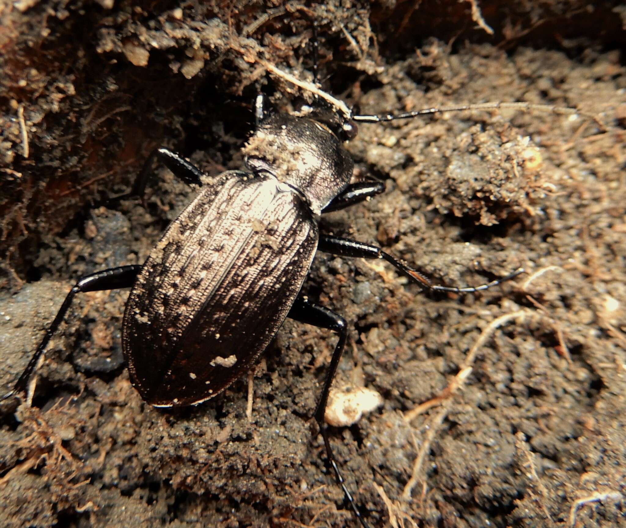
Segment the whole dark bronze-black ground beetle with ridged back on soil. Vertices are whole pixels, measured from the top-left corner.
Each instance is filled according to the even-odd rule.
[[[442,109],[367,116],[304,105],[299,112],[284,114],[264,112],[263,102],[258,96],[255,131],[244,147],[247,171],[224,172],[203,187],[143,265],[80,279],[6,397],[29,391],[49,339],[79,292],[131,288],[123,317],[123,354],[131,383],[155,407],[197,405],[222,392],[250,369],[285,317],[329,329],[339,340],[314,417],[345,498],[367,528],[341,477],[324,422],[347,326],[341,316],[300,295],[314,254],[319,250],[384,259],[423,289],[437,292],[483,290],[522,270],[477,287],[435,286],[379,247],[318,232],[320,214],[384,191],[379,181],[351,182],[354,162],[342,142],[354,137],[357,122],[391,121]],[[478,105],[498,106],[504,105]],[[143,196],[155,161],[188,184],[201,184],[203,174],[197,167],[161,148],[148,158],[130,194]]]

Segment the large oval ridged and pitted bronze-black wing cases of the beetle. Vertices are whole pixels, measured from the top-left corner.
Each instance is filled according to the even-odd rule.
[[[287,316],[316,246],[302,199],[267,174],[227,172],[203,190],[126,304],[123,349],[143,399],[197,404],[247,371]]]

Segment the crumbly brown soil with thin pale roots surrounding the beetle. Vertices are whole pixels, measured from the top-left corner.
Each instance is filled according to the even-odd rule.
[[[382,261],[316,256],[304,292],[349,327],[334,387],[383,400],[331,428],[367,522],[626,526],[626,10],[506,3],[0,7],[0,392],[77,277],[145,261],[197,194],[155,167],[145,207],[108,201],[151,149],[239,169],[258,91],[274,111],[312,100],[280,72],[312,80],[317,21],[322,87],[361,112],[546,105],[360,124],[346,145],[386,192],[324,232],[451,286],[526,270],[435,296]],[[78,296],[32,406],[0,404],[0,526],[357,526],[310,419],[336,337],[285,321],[250,418],[246,377],[167,412],[128,381],[127,295]]]

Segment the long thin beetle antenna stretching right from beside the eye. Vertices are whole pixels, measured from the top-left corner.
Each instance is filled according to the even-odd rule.
[[[396,119],[411,119],[411,117],[423,116],[424,114],[439,114],[441,112],[459,112],[463,110],[490,110],[490,109],[501,109],[501,108],[511,108],[515,110],[537,110],[541,112],[552,112],[553,114],[559,115],[580,115],[585,116],[593,121],[597,122],[597,124],[605,129],[605,126],[602,122],[599,121],[597,116],[593,114],[587,114],[585,112],[581,112],[576,108],[570,108],[567,106],[555,106],[551,104],[536,104],[531,102],[478,102],[476,104],[459,104],[454,106],[441,106],[441,107],[433,107],[433,108],[424,108],[421,110],[414,110],[411,112],[403,112],[401,114],[356,114],[352,115],[350,119],[355,122],[361,123],[380,123],[386,121],[395,121]]]

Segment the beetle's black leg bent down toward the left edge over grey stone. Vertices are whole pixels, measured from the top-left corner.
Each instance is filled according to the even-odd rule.
[[[69,306],[77,293],[130,288],[133,284],[135,284],[135,279],[137,278],[141,267],[142,266],[138,264],[134,264],[132,266],[112,267],[111,269],[105,269],[104,271],[92,273],[91,275],[85,276],[81,278],[80,281],[76,282],[74,287],[65,297],[65,301],[63,301],[56,317],[54,317],[54,321],[46,330],[46,334],[41,340],[41,343],[39,343],[33,357],[31,357],[31,361],[28,362],[28,366],[26,366],[26,369],[24,369],[24,372],[13,387],[13,390],[8,394],[5,394],[0,401],[13,395],[27,394],[29,385],[31,384],[31,379],[33,379],[33,374],[38,367],[39,361],[43,356],[43,352],[48,345],[48,341],[50,341],[50,338],[58,329],[59,324],[63,321],[63,318],[68,312]]]

